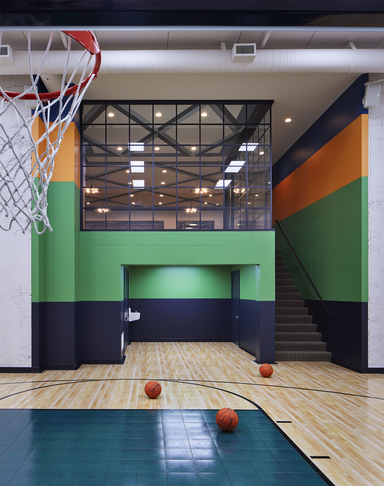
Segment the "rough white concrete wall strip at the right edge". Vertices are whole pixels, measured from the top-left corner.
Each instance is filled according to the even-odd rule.
[[[370,74],[369,81],[383,78]],[[384,84],[368,114],[368,367],[384,367]]]

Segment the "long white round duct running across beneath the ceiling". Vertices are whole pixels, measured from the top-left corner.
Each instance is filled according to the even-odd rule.
[[[33,72],[42,51],[32,52]],[[62,74],[67,53],[50,52],[44,72]],[[81,55],[73,51],[69,71]],[[384,49],[280,49],[258,50],[252,63],[233,63],[230,51],[102,51],[99,74],[144,73],[382,73]],[[13,64],[0,66],[0,74],[29,74],[26,52],[14,52]]]

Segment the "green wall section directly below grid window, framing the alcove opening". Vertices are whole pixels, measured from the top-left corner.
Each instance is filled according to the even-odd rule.
[[[274,300],[273,231],[199,232],[193,235],[149,231],[81,232],[80,298],[118,300],[121,297],[121,265],[212,267],[250,263],[260,265],[263,282],[260,300]]]

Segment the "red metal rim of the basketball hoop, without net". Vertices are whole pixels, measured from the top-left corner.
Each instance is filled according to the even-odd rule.
[[[84,49],[86,49],[90,54],[95,56],[95,64],[93,66],[91,74],[85,78],[80,84],[80,89],[82,89],[88,81],[93,77],[93,79],[97,78],[97,73],[100,69],[101,64],[101,52],[99,44],[94,36],[93,32],[90,30],[63,30],[64,34],[69,35],[72,39],[75,39],[76,42],[82,45]],[[72,95],[76,93],[79,88],[79,84],[76,86],[71,86],[65,90],[64,96]],[[12,91],[4,91],[4,93],[9,96],[9,98],[16,98],[16,96],[20,96],[21,93],[14,93]],[[50,93],[38,93],[40,100],[50,100],[52,98],[58,98],[61,94],[61,91],[52,91]],[[1,96],[1,93],[0,93]],[[28,93],[24,96],[20,97],[21,100],[36,100],[37,97],[33,93]]]

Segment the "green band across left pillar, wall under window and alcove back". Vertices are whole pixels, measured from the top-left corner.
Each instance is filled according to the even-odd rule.
[[[73,182],[51,182],[48,204],[53,231],[32,234],[33,302],[121,300],[121,265],[148,298],[227,298],[231,266],[260,265],[257,299],[274,300],[274,231],[81,232]]]

